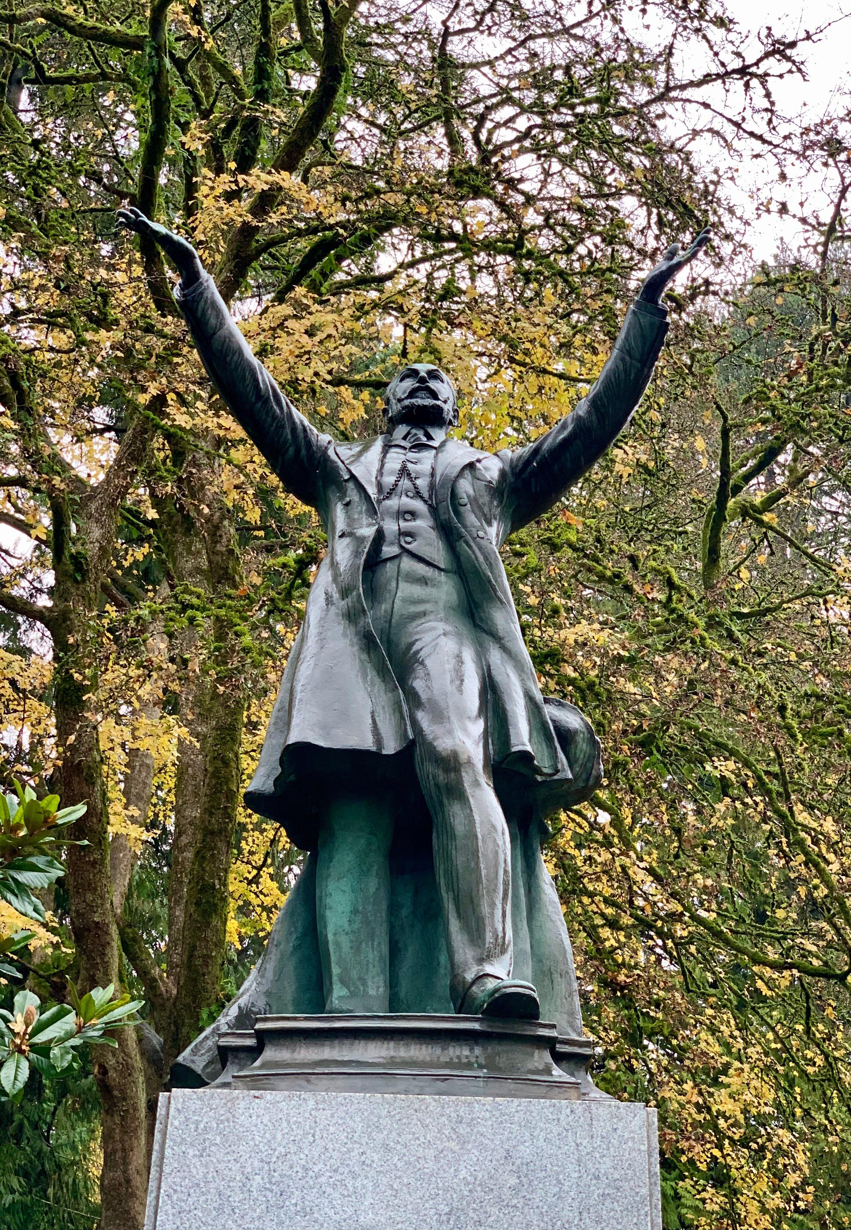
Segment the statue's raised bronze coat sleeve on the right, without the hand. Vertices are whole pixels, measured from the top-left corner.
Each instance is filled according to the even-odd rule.
[[[655,304],[635,303],[606,365],[573,413],[525,448],[499,454],[508,469],[508,533],[551,508],[617,438],[653,374],[667,316]]]

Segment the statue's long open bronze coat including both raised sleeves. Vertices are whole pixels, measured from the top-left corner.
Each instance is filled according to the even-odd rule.
[[[289,753],[305,747],[394,755],[411,743],[405,700],[373,631],[363,593],[378,530],[384,437],[336,443],[317,432],[252,355],[209,276],[181,310],[223,399],[284,485],[319,510],[328,551],[289,656],[248,806],[288,824]],[[494,765],[537,779],[568,771],[526,652],[499,547],[550,508],[605,451],[635,410],[667,332],[665,311],[637,301],[589,395],[552,430],[498,454],[445,439],[432,502],[478,633]],[[439,583],[435,572],[435,583]],[[289,825],[288,825],[289,831]],[[296,844],[301,835],[290,833]]]

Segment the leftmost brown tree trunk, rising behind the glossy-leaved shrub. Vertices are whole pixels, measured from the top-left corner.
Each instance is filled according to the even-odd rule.
[[[52,499],[55,584],[50,632],[61,759],[59,793],[65,806],[86,803],[73,836],[87,844],[69,849],[66,876],[81,991],[123,982],[106,782],[97,718],[89,697],[97,688],[95,616],[101,583],[112,561],[121,501],[144,459],[149,435],[144,423],[133,424],[97,487],[82,491],[69,476],[65,491],[57,487]],[[102,1107],[101,1226],[140,1230],[148,1187],[146,1096],[135,1031],[122,1030],[117,1049],[97,1047],[92,1058]]]

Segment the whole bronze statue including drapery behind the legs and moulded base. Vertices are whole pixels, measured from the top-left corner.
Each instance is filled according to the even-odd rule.
[[[226,1041],[229,1031],[258,1016],[279,1023],[258,1023],[264,1049],[234,1082],[284,1079],[280,1048],[289,1039],[291,1055],[299,1027],[267,1014],[285,1006],[339,1015],[301,1037],[314,1058],[319,1039],[354,1046],[357,1034],[365,1054],[368,1038],[385,1047],[395,1038],[416,1055],[423,1038],[454,1047],[464,1031],[470,1053],[487,1057],[478,1074],[473,1065],[448,1076],[438,1065],[370,1079],[573,1089],[567,1073],[582,1048],[562,1048],[564,1071],[548,1058],[540,1060],[547,1073],[497,1071],[518,1047],[534,1068],[542,1033],[492,1033],[491,1022],[453,1033],[450,1017],[411,1017],[437,1023],[406,1027],[403,1047],[398,1032],[363,1022],[398,1022],[381,1016],[394,1010],[457,1012],[466,996],[494,1010],[509,1000],[489,991],[513,977],[534,982],[562,1034],[582,1034],[573,956],[540,843],[547,815],[599,784],[599,743],[578,710],[541,696],[499,549],[628,422],[668,328],[659,298],[708,232],[665,252],[573,412],[530,444],[489,454],[448,434],[455,390],[427,363],[406,364],[391,381],[384,434],[342,443],[317,430],[251,353],[192,246],[135,208],[118,216],[178,267],[176,298],[210,379],[282,482],[317,510],[328,544],[246,792],[311,861],[267,956],[172,1079],[214,1080],[223,1058],[235,1071],[245,1050]],[[362,1023],[348,1028],[343,1016]],[[365,1079],[360,1068],[323,1071],[310,1080]]]

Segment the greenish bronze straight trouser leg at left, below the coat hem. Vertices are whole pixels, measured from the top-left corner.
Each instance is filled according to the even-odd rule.
[[[326,1012],[390,1011],[390,841],[385,795],[341,784],[328,791],[316,860]]]

